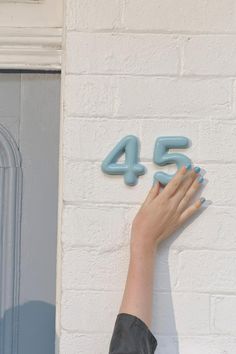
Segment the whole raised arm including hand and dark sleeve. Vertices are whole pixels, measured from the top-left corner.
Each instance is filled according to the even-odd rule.
[[[150,331],[156,250],[204,202],[201,198],[189,205],[202,182],[197,179],[199,170],[182,166],[161,193],[160,183],[154,184],[133,220],[129,268],[111,354],[156,350],[157,341]]]

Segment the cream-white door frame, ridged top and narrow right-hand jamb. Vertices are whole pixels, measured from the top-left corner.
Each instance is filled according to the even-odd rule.
[[[64,97],[64,0],[0,0],[8,23],[1,24],[0,12],[0,70],[55,71],[61,73],[60,130],[58,161],[58,217],[57,217],[57,274],[56,274],[56,319],[55,354],[59,354],[61,318],[61,228],[62,228],[62,138],[63,138],[63,97]],[[55,7],[59,10],[55,19]],[[20,11],[19,11],[20,10]],[[19,13],[18,13],[19,11]],[[45,13],[50,13],[45,21]],[[30,18],[30,13],[32,18]],[[22,18],[22,14],[24,14]],[[33,22],[41,18],[40,24]],[[20,22],[22,21],[22,22]],[[6,21],[5,21],[6,22]]]

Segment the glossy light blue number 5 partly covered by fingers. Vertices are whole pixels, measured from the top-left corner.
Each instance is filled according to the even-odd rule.
[[[189,145],[188,138],[184,136],[162,136],[157,138],[154,148],[153,161],[160,166],[175,163],[179,169],[181,166],[191,164],[191,160],[179,153],[168,153],[171,148],[186,148]],[[153,176],[153,184],[159,181],[166,185],[175,174],[169,175],[165,172],[156,172]]]

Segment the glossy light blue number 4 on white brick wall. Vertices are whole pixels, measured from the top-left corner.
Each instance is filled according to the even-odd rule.
[[[117,160],[125,154],[125,162]],[[124,175],[125,183],[134,186],[138,177],[145,173],[145,167],[139,162],[139,142],[134,135],[124,137],[102,162],[102,171],[111,175]]]

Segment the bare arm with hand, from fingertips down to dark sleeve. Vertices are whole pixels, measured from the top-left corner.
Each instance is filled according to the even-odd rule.
[[[183,166],[160,192],[156,183],[135,216],[131,229],[130,262],[119,313],[152,321],[152,293],[156,248],[200,208],[205,198],[189,205],[202,177],[199,168]]]

